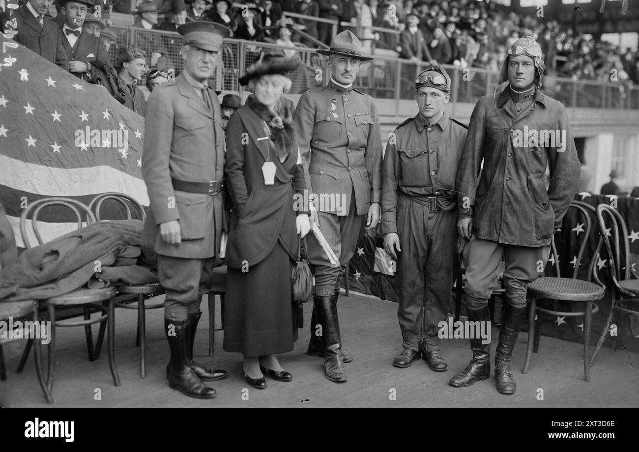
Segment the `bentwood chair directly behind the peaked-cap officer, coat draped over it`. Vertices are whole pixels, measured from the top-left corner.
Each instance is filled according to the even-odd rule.
[[[132,211],[130,206],[134,207],[135,210],[138,211],[139,216],[142,218],[142,222],[146,218],[146,213],[144,212],[144,208],[140,205],[137,200],[133,197],[126,195],[125,193],[102,193],[97,195],[91,202],[89,203],[89,210],[91,212],[95,211],[96,220],[103,221],[100,216],[100,211],[102,204],[106,200],[112,200],[119,205],[121,205],[125,212],[127,213],[127,220],[131,220],[133,218]],[[145,297],[156,296],[160,294],[164,294],[164,287],[160,285],[160,283],[149,283],[149,284],[122,284],[117,285],[116,289],[118,290],[118,294],[121,295],[130,295],[131,297],[123,297],[118,299],[115,302],[115,305],[118,308],[125,309],[137,309],[137,335],[135,337],[135,345],[140,347],[140,377],[146,377],[146,310],[147,309],[157,309],[164,307],[164,303],[154,303],[153,305],[146,305],[144,303]],[[135,303],[125,303],[125,301],[130,300],[130,298],[137,298],[137,302]],[[104,334],[102,329],[100,330],[100,334]]]

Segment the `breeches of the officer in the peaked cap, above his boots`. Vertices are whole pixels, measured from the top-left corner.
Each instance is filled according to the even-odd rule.
[[[208,259],[182,259],[158,254],[158,277],[165,289],[164,318],[178,322],[199,310],[203,294],[213,284],[213,262]]]

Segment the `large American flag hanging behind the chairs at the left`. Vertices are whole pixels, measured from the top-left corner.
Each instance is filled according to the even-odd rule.
[[[17,245],[24,247],[22,210],[43,197],[89,204],[98,193],[120,192],[148,206],[141,174],[144,118],[104,87],[2,34],[0,45],[0,200]],[[38,222],[45,242],[77,229],[69,215],[47,211],[45,223]]]

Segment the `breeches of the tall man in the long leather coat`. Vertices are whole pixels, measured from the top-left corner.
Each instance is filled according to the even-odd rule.
[[[464,250],[466,280],[464,286],[466,308],[481,309],[499,280],[499,264],[505,261],[504,287],[508,303],[526,306],[528,284],[544,271],[550,246],[504,245],[473,236]]]

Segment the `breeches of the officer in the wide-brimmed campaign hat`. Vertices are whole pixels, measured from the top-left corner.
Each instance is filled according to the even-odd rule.
[[[309,263],[315,275],[315,295],[331,296],[335,287],[339,287],[339,278],[344,267],[355,254],[357,239],[366,223],[366,215],[357,215],[355,194],[351,196],[348,215],[337,216],[332,213],[318,212],[319,230],[324,234],[330,248],[339,259],[339,267],[333,267],[326,253],[312,232],[308,235]]]

